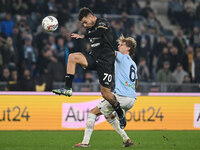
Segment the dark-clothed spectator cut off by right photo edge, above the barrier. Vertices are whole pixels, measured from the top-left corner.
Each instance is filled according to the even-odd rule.
[[[196,83],[200,83],[200,51],[197,51],[196,58],[192,62],[192,79]]]

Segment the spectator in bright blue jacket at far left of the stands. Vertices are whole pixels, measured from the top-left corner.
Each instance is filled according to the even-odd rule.
[[[6,13],[5,20],[1,22],[1,32],[7,37],[13,34],[14,22],[11,19],[11,14]]]

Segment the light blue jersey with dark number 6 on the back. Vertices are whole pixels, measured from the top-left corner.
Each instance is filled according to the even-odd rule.
[[[115,90],[121,96],[136,99],[135,82],[138,79],[137,66],[129,55],[117,52],[115,60]]]

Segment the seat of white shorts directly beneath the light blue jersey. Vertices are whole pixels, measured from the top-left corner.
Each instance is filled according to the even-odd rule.
[[[117,94],[114,94],[117,101],[120,103],[120,106],[122,109],[124,109],[125,111],[131,109],[135,103],[135,98],[131,98],[131,97],[126,97],[126,96],[120,96]]]

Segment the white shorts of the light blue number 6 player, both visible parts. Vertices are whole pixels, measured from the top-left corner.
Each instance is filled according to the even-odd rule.
[[[135,99],[131,97],[120,96],[114,94],[117,101],[120,103],[120,107],[126,112],[131,109],[135,103]],[[116,113],[112,107],[112,105],[107,100],[102,100],[97,107],[100,112],[105,116],[109,117],[112,113]]]

